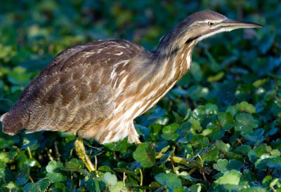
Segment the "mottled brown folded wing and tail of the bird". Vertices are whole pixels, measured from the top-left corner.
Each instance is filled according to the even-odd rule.
[[[113,66],[132,60],[143,48],[123,40],[93,41],[58,54],[1,118],[11,135],[67,130],[102,122],[113,109]],[[116,67],[116,66],[115,66]]]

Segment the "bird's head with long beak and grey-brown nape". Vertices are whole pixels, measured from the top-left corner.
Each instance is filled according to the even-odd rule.
[[[200,11],[193,13],[171,29],[160,39],[157,50],[169,55],[181,48],[185,43],[195,45],[202,39],[233,29],[263,27],[254,22],[230,20],[226,16],[214,11]],[[163,52],[164,50],[164,52]]]

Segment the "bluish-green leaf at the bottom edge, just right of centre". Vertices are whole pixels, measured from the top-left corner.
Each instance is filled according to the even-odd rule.
[[[159,184],[168,186],[170,189],[182,186],[181,179],[178,179],[176,174],[173,173],[159,173],[155,176],[155,180]]]

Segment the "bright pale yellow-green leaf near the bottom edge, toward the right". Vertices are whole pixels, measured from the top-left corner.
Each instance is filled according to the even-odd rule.
[[[241,175],[241,172],[238,172],[237,170],[230,170],[225,172],[223,176],[219,177],[214,183],[219,185],[230,184],[237,186],[240,182]]]

